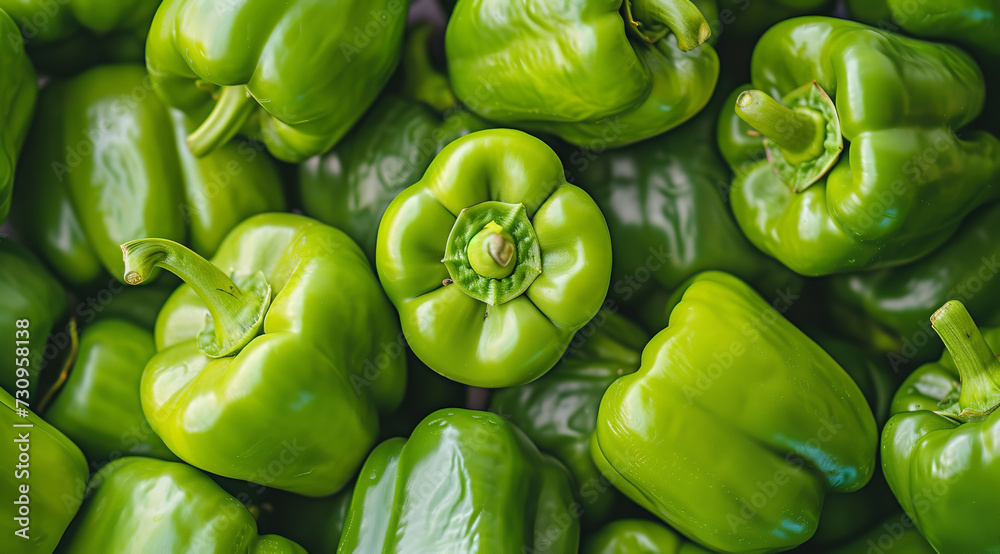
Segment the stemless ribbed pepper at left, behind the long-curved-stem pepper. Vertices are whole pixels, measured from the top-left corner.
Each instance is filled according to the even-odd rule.
[[[141,66],[46,87],[18,171],[22,236],[74,286],[122,278],[120,245],[160,237],[209,256],[245,218],[284,209],[277,170],[249,143],[206,158],[149,90]],[[101,282],[103,284],[103,282]]]

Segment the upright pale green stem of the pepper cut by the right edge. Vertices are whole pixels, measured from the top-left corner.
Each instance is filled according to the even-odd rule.
[[[931,326],[958,367],[962,414],[985,414],[1000,403],[1000,360],[976,327],[965,306],[949,300],[931,316]]]

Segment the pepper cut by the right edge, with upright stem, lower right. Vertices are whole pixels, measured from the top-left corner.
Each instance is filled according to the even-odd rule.
[[[893,398],[882,469],[938,552],[992,552],[1000,529],[977,523],[1000,509],[1000,329],[977,329],[957,300],[931,324],[947,351],[914,371]]]

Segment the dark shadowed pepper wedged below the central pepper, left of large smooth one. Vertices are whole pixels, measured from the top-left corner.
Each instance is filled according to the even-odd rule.
[[[527,385],[498,390],[490,399],[490,411],[566,465],[586,524],[605,520],[622,501],[590,457],[590,436],[604,391],[618,377],[639,369],[647,340],[649,335],[634,323],[601,311],[577,332],[552,371]]]

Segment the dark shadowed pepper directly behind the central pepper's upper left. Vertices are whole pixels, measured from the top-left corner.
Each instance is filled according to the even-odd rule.
[[[299,165],[305,212],[347,233],[374,265],[378,224],[389,203],[420,180],[448,143],[485,127],[464,109],[442,115],[384,94],[336,147]]]

